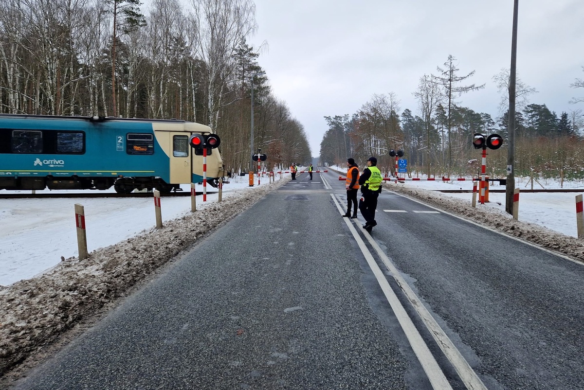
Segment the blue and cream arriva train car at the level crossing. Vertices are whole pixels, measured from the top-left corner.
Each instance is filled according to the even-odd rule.
[[[193,133],[211,128],[182,120],[0,114],[0,190],[114,186],[169,192],[203,181]],[[225,176],[218,149],[207,149],[207,183]]]

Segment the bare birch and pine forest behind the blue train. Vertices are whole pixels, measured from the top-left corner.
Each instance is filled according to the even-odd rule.
[[[196,121],[220,135],[234,173],[252,168],[258,148],[272,167],[311,161],[303,125],[247,44],[253,1],[142,8],[140,0],[0,2],[0,112]]]

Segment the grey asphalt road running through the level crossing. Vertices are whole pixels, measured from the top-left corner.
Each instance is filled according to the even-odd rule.
[[[451,388],[467,388],[362,218],[340,217],[338,175],[297,177],[16,388],[432,389],[371,256]],[[583,266],[394,193],[377,210],[371,238],[485,388],[584,388]]]

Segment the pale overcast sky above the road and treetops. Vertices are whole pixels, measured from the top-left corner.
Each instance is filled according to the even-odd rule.
[[[401,112],[418,114],[412,92],[437,74],[449,54],[464,85],[486,83],[459,103],[499,115],[492,77],[509,68],[513,0],[255,0],[259,47],[272,92],[304,126],[313,156],[327,130],[324,116],[353,114],[374,93],[394,92]],[[517,72],[558,116],[584,89],[584,0],[520,0]]]

